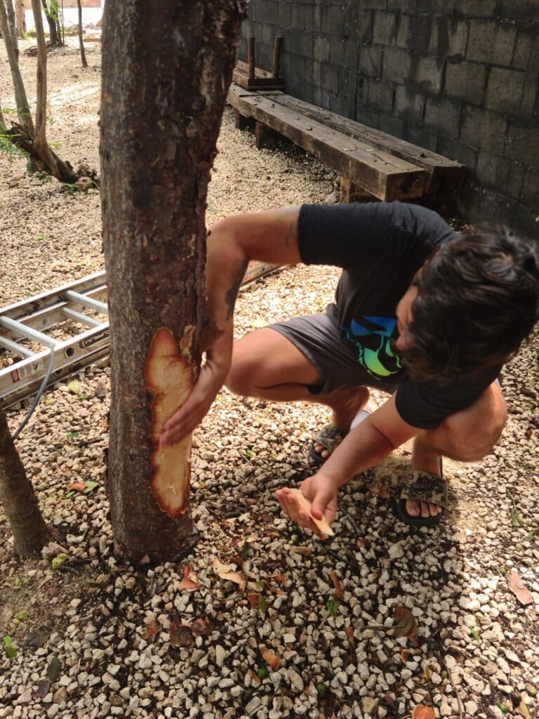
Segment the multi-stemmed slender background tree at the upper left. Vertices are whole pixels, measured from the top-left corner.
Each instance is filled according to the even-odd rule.
[[[11,127],[2,134],[13,145],[29,156],[37,170],[52,175],[62,182],[75,183],[78,175],[73,171],[69,162],[60,160],[60,157],[49,147],[46,135],[47,124],[47,47],[41,17],[39,0],[32,0],[32,12],[37,40],[37,105],[36,127],[32,122],[19,63],[15,57],[14,46],[7,22],[5,0],[0,0],[0,29],[4,35],[4,44],[9,59],[11,78],[13,79],[15,101],[17,103],[18,123],[11,123]]]

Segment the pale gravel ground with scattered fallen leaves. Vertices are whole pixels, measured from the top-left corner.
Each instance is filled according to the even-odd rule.
[[[88,60],[83,71],[73,49],[50,55],[49,139],[97,168],[98,51]],[[34,63],[22,59],[29,96]],[[8,78],[2,48],[4,108]],[[258,152],[230,110],[219,148],[208,221],[335,191],[333,174],[294,148]],[[103,266],[96,191],[62,192],[5,157],[0,168],[0,306]],[[295,267],[260,280],[241,294],[238,336],[323,308],[336,278]],[[182,562],[142,571],[111,554],[108,368],[80,372],[80,394],[64,383],[47,392],[17,447],[56,541],[19,562],[0,509],[0,631],[17,646],[13,659],[0,646],[0,717],[395,719],[417,706],[538,716],[537,339],[507,366],[505,436],[483,462],[446,463],[454,507],[429,530],[392,514],[406,447],[344,488],[331,541],[292,526],[274,491],[310,474],[308,442],[327,413],[224,390],[194,436],[195,544]],[[12,429],[22,415],[8,412]],[[66,496],[78,479],[96,488]],[[241,572],[243,593],[215,559]],[[513,570],[530,605],[510,591]]]

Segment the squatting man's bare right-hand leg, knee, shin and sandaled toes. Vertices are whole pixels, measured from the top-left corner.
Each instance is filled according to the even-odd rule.
[[[441,457],[459,462],[476,462],[492,451],[505,426],[505,402],[497,383],[492,383],[474,404],[446,418],[436,429],[415,437],[412,469],[438,475]],[[436,504],[407,500],[406,511],[413,517],[434,516]]]

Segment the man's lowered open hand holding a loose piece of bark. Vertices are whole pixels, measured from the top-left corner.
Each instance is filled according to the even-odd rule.
[[[337,513],[337,490],[320,474],[308,477],[300,485],[301,493],[311,503],[310,514],[317,519],[326,518],[331,525]],[[316,526],[300,500],[295,497],[289,487],[283,487],[275,493],[283,512],[300,526],[322,536],[320,528]]]

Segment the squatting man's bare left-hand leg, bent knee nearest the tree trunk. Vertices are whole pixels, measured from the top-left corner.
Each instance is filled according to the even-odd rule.
[[[332,421],[347,432],[369,399],[366,387],[315,395],[309,386],[323,384],[321,372],[289,339],[264,327],[234,342],[226,387],[238,395],[275,402],[315,402],[331,408]]]

